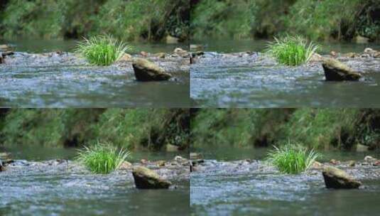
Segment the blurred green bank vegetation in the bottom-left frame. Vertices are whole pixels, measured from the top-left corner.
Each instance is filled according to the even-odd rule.
[[[0,145],[188,148],[188,109],[0,109]]]

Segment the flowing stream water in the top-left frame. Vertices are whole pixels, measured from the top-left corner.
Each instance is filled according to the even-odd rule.
[[[11,44],[16,51],[28,53],[75,48],[75,41],[15,41]],[[139,50],[171,53],[175,47],[187,45],[136,44],[134,53]],[[22,58],[22,55],[16,57]],[[63,57],[59,56],[47,61],[33,55],[25,58],[28,60],[25,64],[0,65],[0,107],[190,106],[188,71],[170,71],[175,78],[169,81],[137,82],[131,64],[93,67],[85,63],[63,63]],[[161,62],[165,64],[165,61],[170,60]]]

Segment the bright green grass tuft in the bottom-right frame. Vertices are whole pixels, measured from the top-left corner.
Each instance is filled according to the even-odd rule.
[[[281,148],[276,146],[274,148],[268,153],[267,161],[276,166],[281,173],[301,173],[310,168],[314,161],[321,156],[313,149],[308,151],[302,146],[291,144],[290,141]]]

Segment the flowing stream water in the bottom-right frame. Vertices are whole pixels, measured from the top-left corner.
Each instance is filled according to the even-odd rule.
[[[285,175],[262,168],[260,162],[223,162],[261,160],[266,152],[263,148],[258,151],[224,148],[227,156],[222,150],[210,149],[193,149],[209,158],[203,165],[205,169],[191,173],[190,206],[195,215],[377,215],[380,211],[379,168],[347,170],[362,180],[362,189],[328,190],[320,171]],[[325,152],[324,155],[325,160],[363,160],[366,154]]]

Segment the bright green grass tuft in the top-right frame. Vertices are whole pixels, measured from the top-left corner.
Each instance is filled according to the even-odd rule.
[[[313,56],[319,45],[315,45],[300,36],[285,36],[274,38],[275,41],[268,43],[266,52],[276,58],[278,63],[289,66],[307,63]]]

